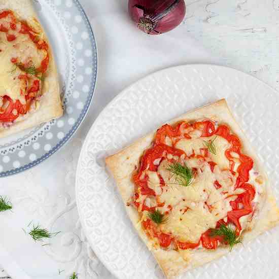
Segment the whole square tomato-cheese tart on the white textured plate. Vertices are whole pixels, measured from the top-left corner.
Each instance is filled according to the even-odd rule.
[[[279,222],[264,168],[225,99],[172,120],[106,163],[167,278]]]

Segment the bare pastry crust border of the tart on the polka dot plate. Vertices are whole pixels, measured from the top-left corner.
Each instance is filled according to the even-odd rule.
[[[60,99],[59,78],[53,51],[51,44],[48,41],[47,34],[33,9],[31,0],[0,0],[0,11],[6,9],[15,12],[19,18],[26,20],[30,26],[36,29],[40,28],[43,33],[44,40],[49,45],[50,60],[47,75],[43,84],[43,96],[40,99],[40,108],[33,113],[27,113],[26,118],[19,122],[15,122],[9,128],[2,129],[0,131],[0,138],[48,122],[52,119],[59,118],[63,115]]]

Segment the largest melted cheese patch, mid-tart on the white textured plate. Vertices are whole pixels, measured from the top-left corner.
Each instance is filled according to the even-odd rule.
[[[206,162],[201,170],[198,170],[198,175],[190,186],[176,185],[175,178],[167,170],[168,164],[167,160],[164,160],[158,168],[158,172],[169,186],[163,187],[163,192],[158,197],[160,202],[166,202],[162,212],[168,210],[168,205],[172,207],[168,222],[161,225],[161,230],[176,235],[180,241],[196,243],[203,232],[214,228],[216,223],[232,210],[229,202],[234,197],[227,198],[229,194],[222,192],[228,191],[230,195],[236,192],[231,180],[223,180],[223,186],[216,189],[214,182],[217,176],[226,178],[228,173],[222,173],[217,167],[217,173],[213,173]]]

